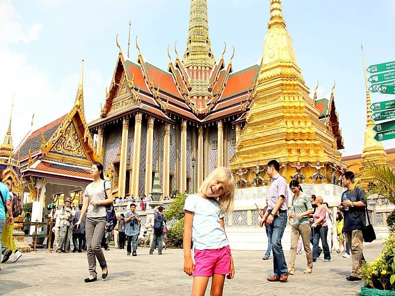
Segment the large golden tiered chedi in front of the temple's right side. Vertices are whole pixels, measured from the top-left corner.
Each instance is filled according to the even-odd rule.
[[[246,125],[238,138],[237,152],[231,159],[232,170],[238,169],[239,163],[248,168],[258,160],[264,165],[271,159],[282,164],[296,163],[299,158],[300,162],[315,166],[327,162],[340,165],[341,153],[336,149],[335,137],[318,120],[320,111],[309,93],[296,63],[281,1],[271,0],[256,89]],[[295,173],[288,167],[283,170],[287,177]],[[311,166],[305,170],[307,176],[314,173]]]

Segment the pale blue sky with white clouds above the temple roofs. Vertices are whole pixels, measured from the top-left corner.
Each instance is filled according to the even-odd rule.
[[[209,35],[218,61],[227,44],[228,63],[235,46],[234,70],[260,60],[270,0],[208,0]],[[306,84],[318,96],[330,92],[340,117],[344,155],[361,153],[365,130],[365,86],[360,43],[366,66],[395,60],[394,0],[283,0],[283,15]],[[6,132],[13,93],[13,142],[70,111],[77,92],[81,59],[87,121],[99,116],[113,75],[118,48],[137,59],[135,37],[146,59],[167,69],[167,45],[183,55],[189,0],[0,0],[0,142]],[[395,96],[372,94],[372,102]],[[395,141],[383,142],[385,148]]]

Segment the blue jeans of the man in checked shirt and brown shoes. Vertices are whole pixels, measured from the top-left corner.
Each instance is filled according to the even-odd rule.
[[[287,213],[280,213],[275,216],[273,223],[268,225],[273,231],[272,234],[272,251],[273,251],[273,271],[278,277],[286,275],[288,271],[287,263],[285,261],[284,251],[282,250],[281,239],[284,234],[287,223]]]

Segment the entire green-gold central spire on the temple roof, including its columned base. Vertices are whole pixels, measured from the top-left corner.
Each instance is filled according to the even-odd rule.
[[[208,36],[207,0],[191,0],[187,47],[182,59],[190,80],[188,102],[197,113],[207,113],[213,98],[209,90],[210,73],[216,61]]]

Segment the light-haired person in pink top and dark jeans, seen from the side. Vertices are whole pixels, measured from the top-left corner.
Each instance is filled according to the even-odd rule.
[[[316,262],[318,255],[318,243],[319,239],[321,239],[322,249],[324,251],[324,262],[330,261],[330,251],[328,242],[326,240],[328,234],[328,224],[326,222],[326,207],[322,204],[323,199],[321,196],[316,197],[316,212],[314,212],[314,222],[312,224],[313,228],[313,262]]]

